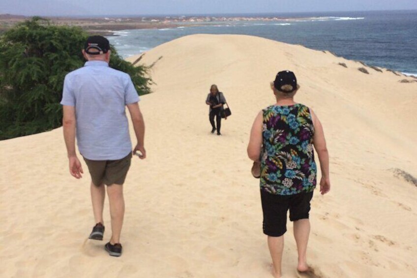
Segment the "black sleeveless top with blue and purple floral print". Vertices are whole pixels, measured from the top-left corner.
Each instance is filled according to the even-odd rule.
[[[272,105],[263,112],[261,189],[277,195],[313,191],[317,168],[310,110],[297,103]]]

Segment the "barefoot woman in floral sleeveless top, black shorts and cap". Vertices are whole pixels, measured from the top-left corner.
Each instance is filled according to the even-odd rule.
[[[320,192],[326,194],[330,190],[326,140],[322,124],[313,111],[294,102],[299,85],[293,72],[278,72],[271,89],[276,103],[259,112],[247,151],[254,161],[252,173],[260,178],[263,230],[268,235],[273,276],[281,277],[288,210],[290,220],[294,221],[297,270],[308,274],[314,271],[306,259],[310,200],[317,172],[313,146],[321,166]]]

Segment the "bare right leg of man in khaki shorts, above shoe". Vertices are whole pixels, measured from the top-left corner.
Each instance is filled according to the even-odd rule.
[[[109,196],[110,216],[112,219],[112,238],[110,244],[120,243],[120,232],[124,217],[123,185],[113,184],[107,186]]]

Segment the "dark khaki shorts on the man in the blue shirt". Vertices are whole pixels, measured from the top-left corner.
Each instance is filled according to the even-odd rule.
[[[132,153],[118,160],[89,160],[85,157],[94,185],[122,185],[130,167]]]

